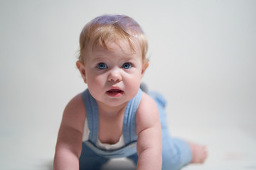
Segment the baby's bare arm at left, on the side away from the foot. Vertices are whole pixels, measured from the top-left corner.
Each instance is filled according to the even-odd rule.
[[[55,148],[54,169],[79,169],[85,107],[78,94],[66,106]]]

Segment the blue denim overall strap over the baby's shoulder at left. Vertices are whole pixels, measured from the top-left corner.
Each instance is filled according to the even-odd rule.
[[[88,89],[82,93],[82,101],[85,106],[88,128],[90,129],[89,140],[96,145],[99,128],[99,115],[97,102],[93,98]]]

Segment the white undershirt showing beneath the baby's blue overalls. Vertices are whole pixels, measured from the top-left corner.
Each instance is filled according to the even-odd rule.
[[[87,118],[85,119],[85,128],[84,128],[84,133],[82,135],[82,141],[87,141],[89,139],[89,127],[88,127],[88,121]],[[100,142],[99,138],[97,139],[97,147],[101,148],[101,149],[119,149],[121,147],[124,147],[124,135],[122,134],[119,141],[115,144],[106,144],[106,143],[102,143]]]

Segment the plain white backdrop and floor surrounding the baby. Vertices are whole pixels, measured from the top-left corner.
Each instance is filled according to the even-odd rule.
[[[0,169],[52,169],[63,109],[85,89],[82,27],[124,13],[149,38],[144,81],[168,101],[173,135],[208,145],[206,164],[256,169],[256,1],[0,1]],[[119,159],[105,169],[124,169]]]

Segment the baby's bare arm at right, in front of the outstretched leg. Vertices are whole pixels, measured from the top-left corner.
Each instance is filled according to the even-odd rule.
[[[161,123],[156,103],[147,94],[142,95],[137,111],[137,169],[161,169]]]

